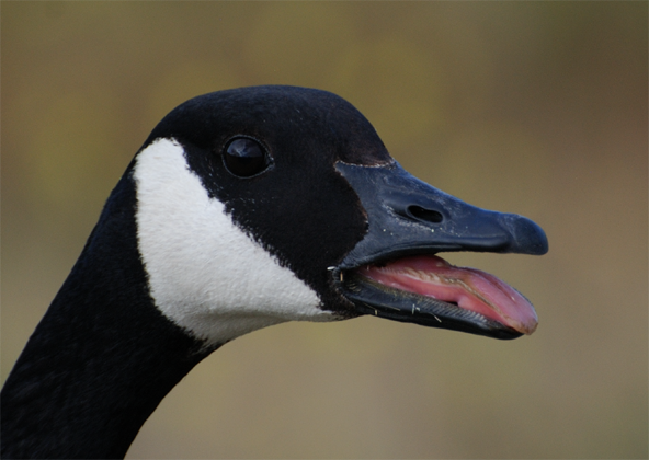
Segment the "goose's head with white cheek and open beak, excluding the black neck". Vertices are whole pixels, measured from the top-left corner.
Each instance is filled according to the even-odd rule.
[[[435,254],[543,254],[543,230],[417,180],[334,94],[258,87],[190,100],[132,170],[155,304],[208,344],[361,314],[498,338],[536,327],[517,291]]]

